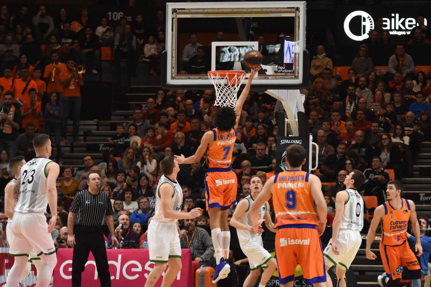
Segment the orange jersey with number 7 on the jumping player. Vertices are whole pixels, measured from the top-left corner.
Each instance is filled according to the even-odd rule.
[[[206,163],[209,168],[228,168],[231,166],[232,151],[237,140],[237,131],[232,128],[228,132],[212,129],[214,142],[208,148]]]

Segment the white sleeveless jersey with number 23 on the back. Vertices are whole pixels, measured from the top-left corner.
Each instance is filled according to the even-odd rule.
[[[15,207],[21,213],[47,212],[47,164],[52,162],[46,157],[35,157],[21,168],[19,198]]]

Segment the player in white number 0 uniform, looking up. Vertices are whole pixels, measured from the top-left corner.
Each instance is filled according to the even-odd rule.
[[[328,287],[332,287],[328,270],[333,265],[337,266],[337,287],[347,287],[346,271],[361,247],[362,236],[359,232],[364,226],[364,201],[357,189],[364,182],[365,175],[359,170],[353,170],[344,180],[347,189],[336,195],[332,238],[323,251]]]

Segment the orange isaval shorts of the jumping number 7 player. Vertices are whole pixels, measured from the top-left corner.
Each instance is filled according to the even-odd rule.
[[[230,168],[209,168],[205,175],[206,210],[213,207],[230,209],[237,202],[237,186],[237,175]]]

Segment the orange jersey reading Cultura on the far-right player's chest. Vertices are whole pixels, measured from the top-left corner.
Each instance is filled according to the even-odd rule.
[[[410,204],[406,199],[402,199],[403,204],[400,210],[395,210],[386,201],[383,204],[384,218],[381,221],[381,242],[384,245],[397,246],[406,241],[407,225],[410,219]]]

